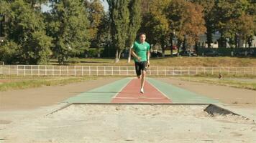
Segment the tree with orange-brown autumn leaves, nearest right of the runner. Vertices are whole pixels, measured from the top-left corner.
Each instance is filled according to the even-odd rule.
[[[206,32],[203,9],[198,4],[185,0],[173,0],[166,9],[170,29],[178,37],[178,46],[183,43],[191,47],[197,44],[199,36]],[[169,35],[172,36],[170,33]]]

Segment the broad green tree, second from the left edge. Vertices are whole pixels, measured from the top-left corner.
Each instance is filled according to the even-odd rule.
[[[55,57],[63,64],[68,57],[83,53],[90,46],[89,21],[83,1],[52,1],[52,11],[47,19],[47,34],[53,37]]]

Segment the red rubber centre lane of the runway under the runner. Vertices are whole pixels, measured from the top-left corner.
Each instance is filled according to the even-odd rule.
[[[168,97],[165,97],[155,87],[152,87],[147,81],[144,85],[144,94],[140,93],[140,80],[132,79],[119,94],[116,95],[111,103],[171,103]]]

